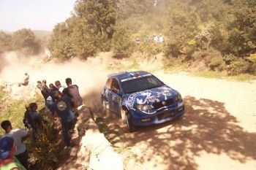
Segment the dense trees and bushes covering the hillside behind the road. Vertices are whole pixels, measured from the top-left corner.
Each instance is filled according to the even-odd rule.
[[[53,29],[48,47],[62,59],[109,50],[116,58],[163,52],[170,63],[256,74],[255,21],[254,0],[78,0],[72,16]],[[160,34],[165,42],[154,43]]]

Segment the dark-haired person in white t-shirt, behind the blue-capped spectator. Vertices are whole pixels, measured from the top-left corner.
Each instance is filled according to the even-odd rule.
[[[9,120],[4,120],[1,123],[1,128],[4,129],[5,135],[4,136],[10,136],[15,140],[15,144],[17,147],[17,150],[15,152],[15,157],[20,161],[20,163],[26,168],[29,169],[29,163],[28,163],[28,152],[26,150],[26,145],[23,144],[23,140],[26,139],[27,136],[31,133],[30,131],[25,131],[23,129],[17,128],[12,129],[12,124]]]

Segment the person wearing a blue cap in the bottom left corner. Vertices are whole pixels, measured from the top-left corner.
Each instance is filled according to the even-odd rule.
[[[26,170],[15,158],[16,144],[12,137],[3,136],[0,139],[0,169]]]

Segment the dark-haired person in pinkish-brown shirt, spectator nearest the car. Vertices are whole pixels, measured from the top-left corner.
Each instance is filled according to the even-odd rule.
[[[67,88],[65,88],[62,93],[67,94],[70,98],[74,98],[78,107],[83,105],[83,99],[80,96],[78,85],[72,85],[72,80],[70,78],[66,79]]]

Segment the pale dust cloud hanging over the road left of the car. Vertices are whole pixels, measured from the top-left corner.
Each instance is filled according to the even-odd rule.
[[[44,55],[19,57],[17,53],[5,53],[2,58],[6,64],[1,67],[0,82],[12,84],[12,90],[18,88],[18,82],[23,80],[24,73],[29,74],[29,85],[34,88],[38,80],[47,80],[48,85],[59,80],[66,85],[65,79],[72,78],[73,84],[80,88],[81,96],[87,96],[92,90],[101,90],[110,71],[107,66],[110,53],[99,54],[96,58],[80,61],[73,58],[64,63],[58,60],[45,63]],[[16,87],[17,86],[17,87]],[[26,87],[20,87],[19,89]]]

